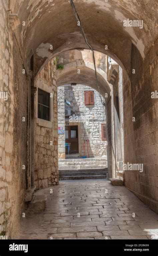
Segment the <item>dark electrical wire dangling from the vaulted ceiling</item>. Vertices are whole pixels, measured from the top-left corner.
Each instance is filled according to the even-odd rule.
[[[73,10],[73,13],[74,13],[74,15],[75,15],[75,17],[76,17],[76,20],[77,20],[77,22],[79,22],[79,24],[80,24],[81,34],[82,34],[82,36],[83,36],[83,38],[84,38],[84,40],[85,40],[85,43],[86,43],[88,49],[92,51],[92,54],[93,54],[93,63],[94,63],[94,69],[95,69],[95,78],[96,78],[96,82],[97,82],[97,86],[98,86],[98,92],[99,92],[99,96],[100,96],[100,99],[101,99],[101,103],[103,104],[103,106],[105,106],[105,103],[103,102],[102,97],[101,97],[101,94],[100,94],[100,86],[99,86],[99,82],[98,82],[97,69],[96,69],[96,62],[95,62],[95,56],[94,56],[94,50],[93,50],[93,48],[90,46],[90,44],[89,44],[88,41],[87,41],[86,35],[85,35],[85,33],[84,33],[84,29],[83,29],[83,27],[82,27],[82,23],[81,23],[80,17],[79,17],[79,15],[78,15],[78,13],[77,13],[77,10],[76,10],[76,7],[75,7],[75,5],[74,5],[73,0],[70,0],[70,4],[71,4],[71,6],[72,6],[72,10]]]

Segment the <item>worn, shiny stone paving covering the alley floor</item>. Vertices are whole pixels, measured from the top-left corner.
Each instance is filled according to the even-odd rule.
[[[102,179],[61,181],[51,188],[36,191],[47,196],[46,209],[26,214],[20,239],[158,237],[158,214],[124,186]]]

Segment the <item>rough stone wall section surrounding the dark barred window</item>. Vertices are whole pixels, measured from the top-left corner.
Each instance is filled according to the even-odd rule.
[[[53,95],[50,98],[51,119],[45,121],[38,118],[36,93],[34,185],[36,188],[46,188],[59,182],[56,65],[53,59],[39,73],[35,84]]]

